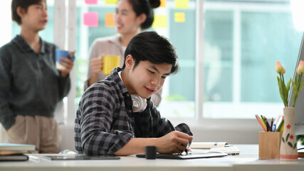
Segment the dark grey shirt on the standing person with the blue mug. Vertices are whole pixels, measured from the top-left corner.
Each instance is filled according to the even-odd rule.
[[[21,36],[0,48],[0,122],[6,130],[16,115],[53,117],[70,90],[70,78],[56,69],[56,46],[40,41],[38,53]]]

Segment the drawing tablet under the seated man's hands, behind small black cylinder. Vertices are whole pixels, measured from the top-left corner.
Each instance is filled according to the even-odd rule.
[[[170,155],[170,154],[159,154],[157,153],[157,158],[162,159],[196,159],[196,158],[211,158],[211,157],[224,157],[227,154],[224,152],[189,152],[187,155],[178,154],[178,155]],[[146,157],[145,154],[138,154],[136,157]]]

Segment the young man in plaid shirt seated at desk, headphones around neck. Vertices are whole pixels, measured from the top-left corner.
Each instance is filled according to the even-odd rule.
[[[78,153],[133,155],[151,145],[160,153],[183,152],[193,139],[188,125],[174,128],[150,100],[178,68],[177,53],[167,38],[156,32],[132,38],[122,68],[90,86],[80,100],[75,118]]]

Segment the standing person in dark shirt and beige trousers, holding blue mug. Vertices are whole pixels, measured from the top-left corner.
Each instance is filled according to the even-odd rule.
[[[48,23],[46,0],[12,0],[11,17],[21,32],[0,48],[0,139],[57,153],[61,134],[54,111],[70,90],[73,61],[61,57],[65,68],[57,69],[56,46],[38,35]]]

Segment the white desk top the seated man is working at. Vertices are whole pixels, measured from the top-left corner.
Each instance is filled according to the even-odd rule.
[[[135,156],[121,157],[120,160],[47,160],[43,154],[35,154],[39,160],[26,162],[0,162],[0,170],[303,170],[304,158],[295,162],[280,160],[258,160],[258,145],[236,145],[241,150],[240,155],[226,157],[168,160],[146,160]]]

